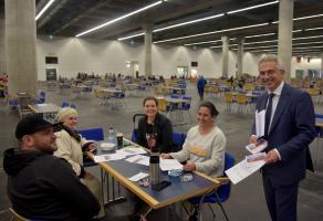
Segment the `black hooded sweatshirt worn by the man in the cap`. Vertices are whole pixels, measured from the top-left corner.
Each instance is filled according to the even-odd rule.
[[[3,168],[13,209],[33,220],[91,220],[98,202],[69,162],[38,150],[7,149]]]

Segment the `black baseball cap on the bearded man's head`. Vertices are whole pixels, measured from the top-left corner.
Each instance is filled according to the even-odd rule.
[[[31,135],[55,125],[58,124],[45,120],[42,114],[28,115],[17,124],[15,137],[17,139],[21,139],[24,135]]]

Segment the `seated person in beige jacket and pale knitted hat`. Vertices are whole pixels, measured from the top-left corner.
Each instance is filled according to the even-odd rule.
[[[96,146],[75,131],[77,125],[77,112],[71,107],[63,107],[58,113],[58,123],[62,123],[62,130],[56,131],[58,150],[54,156],[67,160],[76,176],[96,197],[101,204],[97,218],[105,217],[100,181],[83,167],[83,151],[94,151]]]

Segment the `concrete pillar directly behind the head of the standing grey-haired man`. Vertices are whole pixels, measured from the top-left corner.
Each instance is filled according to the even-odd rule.
[[[278,29],[278,59],[285,70],[284,81],[290,82],[292,62],[294,0],[280,0]]]

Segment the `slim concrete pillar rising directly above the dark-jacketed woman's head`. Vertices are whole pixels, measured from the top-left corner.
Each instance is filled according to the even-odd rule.
[[[152,45],[153,45],[153,25],[146,24],[145,30],[145,75],[149,76],[153,74],[152,65]]]

